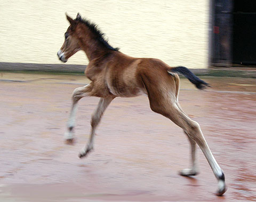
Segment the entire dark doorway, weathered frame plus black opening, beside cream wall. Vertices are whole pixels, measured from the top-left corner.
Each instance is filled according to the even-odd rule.
[[[256,65],[256,1],[211,0],[209,65]]]

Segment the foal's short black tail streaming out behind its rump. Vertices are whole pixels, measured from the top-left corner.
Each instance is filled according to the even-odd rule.
[[[177,68],[172,68],[168,70],[169,72],[177,72],[184,75],[191,83],[193,83],[198,89],[204,89],[206,86],[209,86],[209,83],[204,82],[199,79],[195,74],[193,74],[188,68],[185,66],[178,66]]]

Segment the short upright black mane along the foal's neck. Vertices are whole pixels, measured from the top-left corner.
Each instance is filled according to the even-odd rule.
[[[79,19],[78,21],[84,23],[97,36],[98,40],[103,46],[110,49],[111,51],[119,51],[119,48],[114,48],[109,45],[108,40],[104,38],[105,34],[101,32],[97,24],[94,24],[93,22],[90,22],[86,19]]]

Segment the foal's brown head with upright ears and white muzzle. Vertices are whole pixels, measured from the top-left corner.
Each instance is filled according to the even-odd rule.
[[[69,57],[81,50],[81,46],[79,45],[78,39],[75,36],[75,28],[78,22],[81,20],[81,15],[77,13],[75,20],[71,19],[67,14],[66,16],[70,26],[65,32],[65,41],[57,53],[62,62],[67,62]]]

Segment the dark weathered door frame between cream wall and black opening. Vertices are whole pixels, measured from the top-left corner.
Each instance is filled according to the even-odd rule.
[[[232,64],[233,0],[210,0],[208,65]]]

